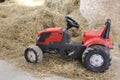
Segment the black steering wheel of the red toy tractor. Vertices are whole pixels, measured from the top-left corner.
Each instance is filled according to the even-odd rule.
[[[65,16],[65,21],[67,22],[67,30],[72,27],[75,27],[75,28],[80,27],[80,25],[75,20],[73,20],[72,18],[70,18],[68,16]]]

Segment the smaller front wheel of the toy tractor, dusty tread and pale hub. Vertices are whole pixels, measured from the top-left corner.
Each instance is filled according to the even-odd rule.
[[[30,45],[25,49],[24,57],[29,63],[40,63],[43,60],[43,52],[38,46]]]

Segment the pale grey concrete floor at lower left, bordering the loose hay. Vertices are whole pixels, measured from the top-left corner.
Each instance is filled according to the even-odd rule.
[[[44,77],[41,79],[30,76],[28,73],[17,69],[14,65],[0,60],[0,80],[69,80],[59,76]]]

